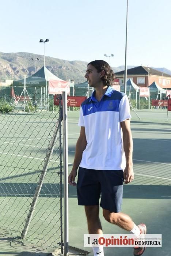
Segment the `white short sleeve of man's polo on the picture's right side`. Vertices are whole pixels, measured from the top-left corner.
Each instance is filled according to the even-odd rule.
[[[119,103],[119,121],[123,122],[126,119],[130,119],[130,107],[129,100],[126,95],[124,95]]]

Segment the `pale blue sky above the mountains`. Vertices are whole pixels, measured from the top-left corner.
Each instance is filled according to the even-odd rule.
[[[0,0],[0,52],[125,65],[126,0]],[[171,70],[171,1],[128,0],[127,65]],[[114,54],[114,57],[105,57]]]

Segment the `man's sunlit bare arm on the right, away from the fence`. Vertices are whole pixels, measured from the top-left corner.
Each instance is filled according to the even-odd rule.
[[[126,167],[123,171],[123,177],[125,179],[125,184],[133,181],[134,172],[133,172],[133,163],[132,163],[132,151],[133,151],[133,141],[132,133],[130,129],[130,120],[127,119],[121,122],[121,128],[123,132],[123,149],[126,157]]]

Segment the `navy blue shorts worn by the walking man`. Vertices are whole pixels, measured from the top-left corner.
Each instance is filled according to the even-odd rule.
[[[123,196],[123,170],[91,170],[79,167],[78,204],[99,205],[110,212],[120,212]]]

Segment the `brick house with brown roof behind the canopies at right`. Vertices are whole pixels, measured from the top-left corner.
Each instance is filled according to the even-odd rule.
[[[115,75],[116,78],[119,79],[119,84],[122,86],[124,70],[116,72]],[[155,82],[161,88],[171,89],[171,75],[149,67],[139,66],[127,69],[127,80],[128,79],[132,79],[137,86],[148,87]]]

